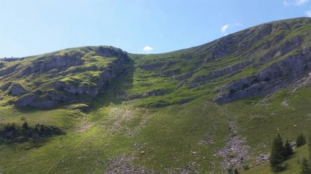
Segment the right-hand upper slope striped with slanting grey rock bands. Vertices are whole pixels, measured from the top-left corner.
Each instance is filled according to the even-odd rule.
[[[171,93],[187,88],[217,94],[227,103],[264,96],[311,72],[311,19],[264,23],[210,43],[167,54],[147,55],[138,67],[178,81]],[[182,93],[182,91],[181,91]]]

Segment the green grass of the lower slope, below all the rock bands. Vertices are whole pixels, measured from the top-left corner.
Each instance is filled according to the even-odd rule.
[[[227,120],[237,122],[238,134],[247,138],[247,145],[251,146],[250,155],[256,157],[259,153],[268,153],[270,142],[276,133],[281,132],[283,138],[295,140],[298,133],[305,133],[310,127],[310,122],[305,122],[305,116],[311,113],[305,109],[310,100],[308,92],[308,89],[300,89],[289,95],[280,91],[265,105],[261,105],[262,98],[257,98],[220,106],[209,102],[208,96],[205,96],[183,105],[162,109],[140,109],[135,107],[135,102],[109,102],[108,98],[111,96],[99,96],[96,101],[98,108],[86,116],[86,120],[92,122],[92,126],[86,131],[68,131],[66,135],[46,140],[37,147],[31,143],[13,146],[2,144],[1,155],[10,157],[10,160],[1,158],[3,160],[0,161],[0,166],[2,173],[102,173],[109,164],[109,159],[127,153],[138,156],[135,164],[162,173],[166,173],[167,168],[178,168],[189,162],[200,164],[202,173],[222,171],[217,165],[221,159],[214,157],[214,154],[225,145],[229,135]],[[299,98],[297,95],[305,97],[307,104],[292,104],[298,102],[295,100]],[[283,98],[290,99],[288,110],[281,108]],[[102,104],[101,99],[105,99]],[[299,114],[290,113],[291,105],[303,107],[304,110],[301,109]],[[274,115],[271,115],[270,107]],[[49,113],[53,116],[53,113],[59,115],[61,111],[62,109],[34,113],[45,113],[45,116]],[[284,113],[287,113],[286,118],[291,119],[291,122],[283,119]],[[32,122],[30,115],[28,117],[23,114]],[[16,119],[19,120],[20,116],[16,116]],[[51,119],[55,120],[53,117]],[[280,125],[280,131],[276,131],[275,124]],[[294,124],[298,126],[293,127]],[[198,143],[206,133],[211,132],[215,144]],[[142,149],[135,149],[133,144],[142,145]],[[266,147],[263,148],[263,145]],[[140,151],[147,151],[147,154],[140,155]],[[192,155],[193,151],[198,155]],[[212,165],[211,161],[216,162],[216,165]],[[252,161],[249,164],[256,165]],[[291,165],[288,168],[289,171],[294,170]]]

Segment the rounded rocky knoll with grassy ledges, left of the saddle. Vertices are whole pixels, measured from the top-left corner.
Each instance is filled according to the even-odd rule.
[[[127,61],[126,52],[102,46],[23,58],[14,65],[2,61],[0,89],[3,96],[11,96],[8,103],[17,108],[44,108],[81,98],[87,100],[97,96]],[[6,80],[12,83],[4,83]]]

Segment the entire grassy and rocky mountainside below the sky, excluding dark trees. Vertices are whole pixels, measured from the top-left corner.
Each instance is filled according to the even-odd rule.
[[[165,54],[79,47],[0,61],[0,122],[66,132],[1,143],[0,173],[271,173],[274,136],[309,132],[310,29],[288,19]],[[300,171],[306,151],[282,172]]]

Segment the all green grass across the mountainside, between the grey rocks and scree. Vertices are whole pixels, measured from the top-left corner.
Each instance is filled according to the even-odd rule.
[[[307,19],[302,21],[304,20]],[[293,30],[292,33],[307,33],[310,24],[305,25],[306,28]],[[276,32],[273,36],[277,34],[279,33]],[[235,36],[234,34],[233,37]],[[292,36],[294,34],[287,39]],[[250,39],[252,36],[245,40]],[[305,37],[304,45],[308,45],[308,39],[310,40],[310,36]],[[256,44],[261,45],[265,41],[270,39],[264,38]],[[227,105],[211,102],[211,99],[218,95],[215,89],[233,80],[252,76],[283,58],[280,57],[256,68],[252,68],[251,64],[241,69],[241,73],[235,76],[220,76],[211,83],[189,88],[191,80],[198,76],[249,60],[249,57],[243,56],[242,51],[218,58],[215,62],[205,63],[205,59],[211,58],[211,53],[207,50],[219,42],[167,54],[130,54],[133,61],[124,65],[124,69],[128,69],[129,72],[115,77],[104,87],[102,94],[86,103],[92,106],[88,113],[82,113],[70,105],[49,110],[17,110],[5,105],[8,100],[17,100],[17,97],[8,96],[6,91],[0,91],[0,96],[3,97],[0,121],[3,124],[8,122],[22,124],[21,118],[26,118],[30,126],[39,123],[66,131],[65,135],[53,136],[38,142],[1,143],[0,173],[104,173],[110,160],[121,154],[133,155],[136,157],[134,164],[160,173],[167,173],[169,169],[182,168],[194,162],[200,173],[211,171],[222,173],[224,169],[220,163],[223,159],[215,154],[225,146],[230,136],[228,121],[236,123],[237,134],[245,138],[245,145],[250,148],[247,164],[252,168],[245,173],[270,173],[268,163],[256,166],[256,157],[270,152],[270,143],[277,133],[281,133],[284,139],[288,138],[291,141],[296,140],[299,133],[308,135],[311,120],[310,87],[292,91],[293,87],[289,86],[266,97],[238,100]],[[64,55],[66,52],[86,53],[86,50],[90,49],[91,47],[79,47],[47,55]],[[252,50],[254,47],[248,49]],[[115,58],[102,58],[94,54],[93,51],[85,54],[84,65],[78,67],[107,68],[115,61]],[[191,54],[191,58],[187,58],[187,54]],[[256,50],[252,57],[254,63],[262,55],[261,50]],[[31,61],[39,57],[41,56],[33,56],[23,63],[30,65]],[[154,71],[139,66],[157,62],[163,65]],[[15,62],[6,62],[6,66],[14,64]],[[70,67],[66,71],[74,68],[76,67]],[[176,68],[181,69],[180,74],[176,76],[193,72],[190,78],[185,79],[185,85],[180,85],[180,80],[172,76],[158,76],[161,72]],[[45,74],[33,74],[27,78],[34,80],[28,82],[26,78],[15,78],[18,75],[15,74],[16,76],[13,75],[6,80],[19,82],[29,90],[32,90],[35,81],[42,81],[45,85],[39,89],[46,90],[50,89],[48,85],[55,80],[67,83],[79,82],[79,85],[95,85],[94,80],[99,72],[87,71],[55,78],[46,78]],[[6,80],[0,79],[1,85],[6,83]],[[164,89],[167,93],[163,96],[133,100],[126,98],[156,89]],[[185,99],[189,101],[177,104]],[[288,100],[288,106],[282,105],[283,100]],[[200,143],[206,135],[214,140],[213,144]],[[141,151],[145,151],[146,154],[141,155]],[[192,154],[194,151],[196,155]],[[305,146],[297,149],[286,162],[288,168],[284,173],[297,171],[299,159],[301,155],[306,154],[306,151]],[[239,170],[241,171],[241,168]]]

